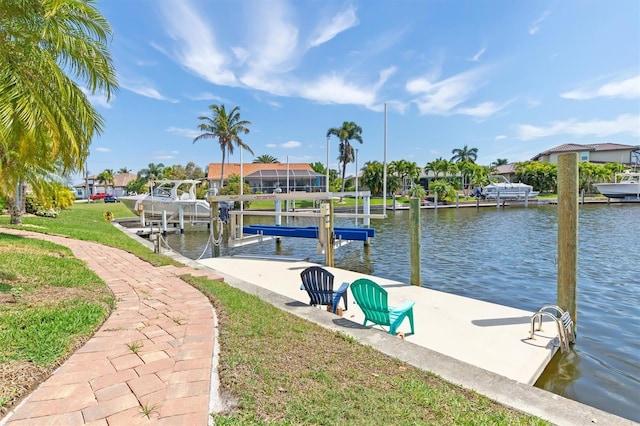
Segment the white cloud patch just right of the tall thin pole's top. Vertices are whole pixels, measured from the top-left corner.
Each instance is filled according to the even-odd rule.
[[[437,83],[432,83],[427,77],[416,78],[407,82],[406,90],[418,95],[414,102],[418,105],[420,114],[448,115],[482,86],[482,74],[483,71],[477,69]]]

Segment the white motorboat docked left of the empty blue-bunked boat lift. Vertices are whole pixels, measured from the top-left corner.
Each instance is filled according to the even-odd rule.
[[[132,212],[138,216],[144,212],[145,218],[162,218],[166,212],[167,220],[179,217],[182,209],[183,218],[208,219],[209,203],[196,198],[196,186],[199,180],[157,180],[151,183],[148,194],[127,195],[119,197]]]

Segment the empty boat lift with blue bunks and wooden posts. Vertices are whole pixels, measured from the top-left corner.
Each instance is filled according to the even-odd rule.
[[[341,198],[345,196],[360,197],[363,200],[363,213],[334,213],[333,211],[333,199]],[[319,245],[324,248],[325,262],[327,266],[334,265],[334,248],[336,243],[336,237],[341,240],[359,240],[364,241],[365,245],[369,243],[369,239],[373,236],[373,229],[369,228],[335,228],[333,226],[334,217],[354,217],[362,218],[363,224],[368,227],[370,225],[370,219],[382,219],[384,214],[371,214],[370,204],[371,192],[370,191],[358,191],[358,192],[291,192],[291,193],[273,193],[273,194],[246,194],[246,195],[209,195],[207,201],[211,206],[211,211],[218,211],[218,204],[221,202],[242,202],[244,201],[257,201],[257,200],[272,200],[275,205],[274,211],[250,211],[246,212],[240,208],[240,210],[231,210],[230,213],[230,246],[239,246],[246,244],[248,241],[261,240],[264,235],[273,236],[294,236],[294,237],[306,237],[306,238],[318,238]],[[282,211],[282,201],[299,201],[299,200],[314,200],[320,202],[320,209],[316,211]],[[357,206],[356,206],[357,208]],[[274,216],[275,226],[258,226],[252,225],[250,227],[244,226],[244,215],[249,214],[252,216]],[[318,218],[318,227],[283,227],[282,216],[285,217],[315,217]],[[216,229],[216,223],[214,223],[214,238],[219,235],[219,230]],[[324,229],[324,232],[320,230]],[[251,237],[245,237],[244,234],[253,234]],[[313,235],[312,235],[313,234]],[[349,238],[352,237],[352,238]]]

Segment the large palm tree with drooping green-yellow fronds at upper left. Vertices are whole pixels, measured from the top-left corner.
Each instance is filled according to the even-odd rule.
[[[22,222],[23,182],[82,170],[104,126],[87,95],[117,89],[111,28],[94,2],[2,2],[0,13],[0,193],[11,224]]]

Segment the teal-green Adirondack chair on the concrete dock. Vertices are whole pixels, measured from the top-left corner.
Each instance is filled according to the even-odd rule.
[[[364,312],[363,325],[371,321],[374,324],[387,326],[389,334],[395,336],[402,321],[409,318],[411,334],[414,334],[413,305],[415,302],[407,301],[398,308],[391,307],[387,304],[387,291],[367,278],[360,278],[351,283],[351,293]]]

